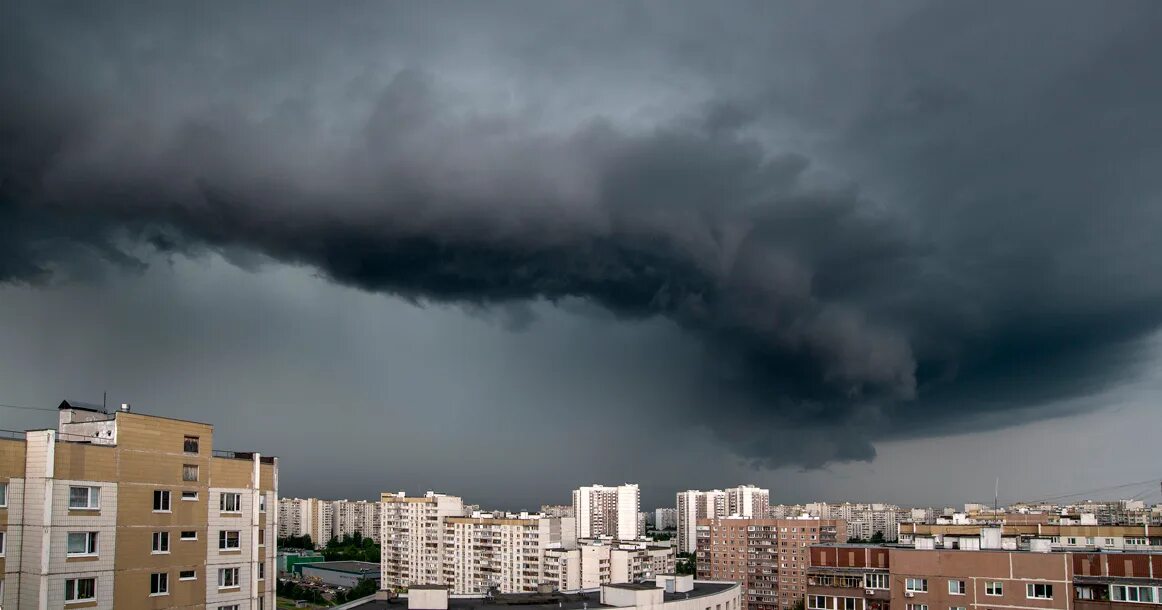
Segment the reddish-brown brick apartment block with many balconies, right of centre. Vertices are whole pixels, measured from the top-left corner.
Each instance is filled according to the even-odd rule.
[[[809,547],[846,539],[842,519],[701,519],[698,579],[743,583],[744,609],[790,610],[806,591]]]

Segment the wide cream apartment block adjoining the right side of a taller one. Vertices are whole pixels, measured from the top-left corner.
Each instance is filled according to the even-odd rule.
[[[575,546],[573,519],[476,514],[444,521],[443,584],[456,594],[536,591],[545,551]]]

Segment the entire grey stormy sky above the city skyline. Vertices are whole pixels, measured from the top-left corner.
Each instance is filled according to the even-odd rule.
[[[1157,476],[1162,3],[2,10],[0,403],[300,496]]]

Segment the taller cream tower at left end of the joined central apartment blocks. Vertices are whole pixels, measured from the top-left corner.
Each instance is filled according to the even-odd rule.
[[[444,522],[464,516],[457,496],[382,494],[380,582],[385,588],[444,583]]]

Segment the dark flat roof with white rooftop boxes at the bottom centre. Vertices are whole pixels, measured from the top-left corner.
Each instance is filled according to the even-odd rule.
[[[641,586],[646,589],[661,589],[660,587],[654,587],[650,583],[609,584],[609,587],[627,586]],[[411,588],[418,589],[421,587],[431,588],[432,586],[428,584]],[[664,593],[662,601],[679,602],[684,601],[687,596],[693,600],[695,597],[722,593],[734,587],[740,587],[740,584],[737,582],[695,581],[694,588],[688,593]],[[406,598],[397,598],[388,601],[368,601],[361,605],[354,607],[352,610],[403,610],[406,608],[408,608],[408,601]],[[451,596],[447,600],[447,608],[449,610],[582,610],[583,608],[598,609],[617,607],[601,603],[601,591],[593,590],[583,593],[554,594],[510,593],[501,594],[492,600],[486,597]]]

